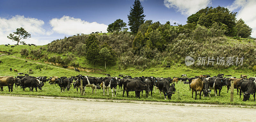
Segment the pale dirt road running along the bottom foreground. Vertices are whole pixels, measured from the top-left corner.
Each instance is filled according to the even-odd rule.
[[[4,121],[255,121],[255,109],[0,96]]]

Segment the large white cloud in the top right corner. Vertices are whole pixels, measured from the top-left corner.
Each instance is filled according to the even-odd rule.
[[[235,0],[227,6],[230,11],[239,9],[236,18],[242,18],[245,24],[252,28],[252,37],[256,37],[256,1],[255,0]]]

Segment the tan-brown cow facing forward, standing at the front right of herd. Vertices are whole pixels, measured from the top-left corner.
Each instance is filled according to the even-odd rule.
[[[200,75],[197,79],[193,79],[192,83],[190,84],[191,89],[192,89],[192,98],[193,98],[193,92],[195,91],[195,95],[199,93],[199,99],[201,99],[201,92],[203,90],[203,81],[204,81],[204,76]],[[196,99],[196,97],[195,97]]]

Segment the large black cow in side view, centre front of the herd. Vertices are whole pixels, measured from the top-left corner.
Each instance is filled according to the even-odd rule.
[[[129,97],[129,91],[135,91],[135,97],[139,97],[140,99],[140,92],[142,90],[149,91],[149,85],[143,83],[139,79],[125,79],[124,80],[124,90],[123,90],[123,97],[124,91],[126,91],[127,97]]]

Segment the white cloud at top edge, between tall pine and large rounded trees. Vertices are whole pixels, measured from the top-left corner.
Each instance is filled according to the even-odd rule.
[[[174,8],[182,15],[187,16],[206,8],[209,4],[211,4],[211,0],[164,0],[164,5],[167,8]]]

